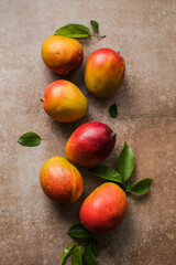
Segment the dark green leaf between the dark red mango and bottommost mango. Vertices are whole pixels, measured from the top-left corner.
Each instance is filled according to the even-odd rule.
[[[91,173],[98,176],[106,180],[111,180],[114,182],[122,182],[121,176],[112,168],[109,168],[103,165],[98,165],[89,169]]]

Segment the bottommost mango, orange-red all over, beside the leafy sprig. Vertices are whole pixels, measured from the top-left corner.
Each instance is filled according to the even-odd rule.
[[[124,219],[128,200],[117,184],[107,182],[98,187],[81,204],[79,218],[92,233],[114,230]]]

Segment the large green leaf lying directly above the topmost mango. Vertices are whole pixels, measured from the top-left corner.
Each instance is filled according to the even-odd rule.
[[[90,29],[82,24],[66,24],[59,28],[54,35],[63,35],[69,38],[87,38]]]

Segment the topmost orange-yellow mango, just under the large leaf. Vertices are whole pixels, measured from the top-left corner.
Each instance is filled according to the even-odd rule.
[[[80,43],[72,38],[51,35],[42,45],[42,59],[48,68],[59,75],[69,75],[79,68],[84,50]]]

